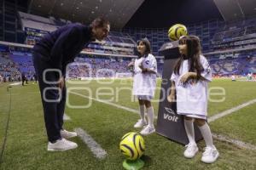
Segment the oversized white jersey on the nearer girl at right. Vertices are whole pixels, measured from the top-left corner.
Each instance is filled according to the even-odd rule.
[[[200,62],[204,68],[201,77],[206,80],[198,82],[189,80],[186,84],[180,82],[180,78],[189,72],[189,59],[183,60],[179,75],[172,73],[171,80],[175,82],[177,93],[177,114],[207,116],[207,88],[208,82],[212,81],[212,72],[207,59],[203,55],[200,56]]]

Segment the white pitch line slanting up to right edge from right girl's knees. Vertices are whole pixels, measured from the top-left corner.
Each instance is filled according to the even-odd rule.
[[[227,116],[227,115],[230,115],[231,113],[235,112],[235,111],[239,111],[241,110],[242,108],[246,107],[247,105],[252,105],[256,103],[256,99],[252,99],[250,101],[247,101],[246,103],[243,103],[241,105],[237,105],[236,107],[233,107],[227,111],[223,111],[223,112],[220,112],[218,113],[217,115],[214,115],[214,116],[210,116],[208,118],[208,122],[213,122],[213,121],[216,121],[217,119],[223,117],[223,116]]]

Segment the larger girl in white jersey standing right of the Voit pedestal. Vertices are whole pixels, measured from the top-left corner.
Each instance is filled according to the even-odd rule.
[[[195,143],[194,123],[199,127],[207,147],[201,161],[212,163],[218,158],[218,150],[212,144],[212,133],[207,124],[207,83],[212,72],[207,59],[201,55],[199,37],[187,36],[179,40],[181,57],[172,73],[172,90],[168,101],[177,95],[177,114],[184,116],[184,127],[189,139],[183,155],[192,158],[198,152]]]

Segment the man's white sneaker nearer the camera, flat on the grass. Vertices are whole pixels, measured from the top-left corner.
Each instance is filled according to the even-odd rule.
[[[64,151],[72,150],[78,147],[78,144],[68,141],[67,139],[59,139],[55,143],[48,143],[48,151]]]

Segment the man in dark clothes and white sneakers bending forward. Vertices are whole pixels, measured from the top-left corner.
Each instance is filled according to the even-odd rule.
[[[70,24],[47,34],[32,49],[49,151],[71,150],[78,146],[67,140],[77,136],[77,133],[68,132],[62,127],[66,104],[66,66],[90,42],[96,39],[102,41],[107,37],[109,29],[108,20],[103,18],[96,18],[90,26]]]

